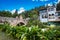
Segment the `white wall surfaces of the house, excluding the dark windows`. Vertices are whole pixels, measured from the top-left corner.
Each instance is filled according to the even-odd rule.
[[[43,12],[42,12],[42,13],[39,12],[39,13],[40,13],[39,15],[40,15],[40,21],[41,21],[41,22],[48,22],[49,20],[52,20],[52,21],[53,21],[53,20],[56,19],[56,17],[55,17],[56,8],[55,8],[55,7],[53,7],[53,8],[54,8],[53,11],[48,11],[48,8],[47,8],[47,12],[46,12],[46,13],[45,13],[45,12],[44,12],[44,13],[43,13]],[[43,10],[42,10],[42,11],[43,11]],[[42,15],[44,15],[44,14],[47,14],[48,18],[42,18]],[[49,14],[54,14],[54,17],[55,17],[55,18],[54,18],[54,19],[49,19]]]

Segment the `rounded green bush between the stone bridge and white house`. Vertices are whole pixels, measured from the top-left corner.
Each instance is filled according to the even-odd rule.
[[[46,28],[47,27],[45,24],[41,23],[40,20],[38,20],[38,19],[30,19],[26,26],[31,27],[32,25],[38,26],[39,28]]]

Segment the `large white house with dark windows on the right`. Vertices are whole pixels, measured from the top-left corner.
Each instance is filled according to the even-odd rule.
[[[60,11],[56,11],[56,6],[49,6],[39,11],[41,22],[60,22]]]

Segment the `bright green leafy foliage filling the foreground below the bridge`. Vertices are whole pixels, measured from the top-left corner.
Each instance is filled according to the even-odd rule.
[[[12,27],[8,24],[0,25],[0,31],[4,31],[9,36],[19,40],[60,40],[60,27],[46,29],[42,31],[39,26],[16,26]]]

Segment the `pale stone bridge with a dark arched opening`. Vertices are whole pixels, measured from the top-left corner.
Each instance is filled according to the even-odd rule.
[[[26,25],[28,23],[29,18],[23,19],[22,15],[20,17],[12,18],[12,17],[0,17],[0,23],[8,22],[12,26],[16,25]]]

